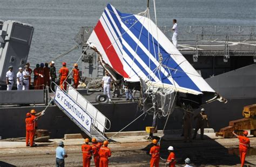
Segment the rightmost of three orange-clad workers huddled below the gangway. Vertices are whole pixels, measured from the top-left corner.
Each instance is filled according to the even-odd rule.
[[[99,149],[99,167],[109,166],[109,157],[111,157],[111,150],[107,147],[108,141],[103,142],[103,147]]]

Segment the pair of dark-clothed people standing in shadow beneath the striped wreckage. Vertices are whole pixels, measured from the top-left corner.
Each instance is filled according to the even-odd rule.
[[[183,133],[181,134],[181,136],[184,136],[184,142],[192,142],[192,139],[196,139],[197,137],[197,132],[200,129],[200,138],[201,140],[204,139],[204,127],[205,125],[207,127],[209,127],[208,124],[208,118],[207,115],[205,113],[205,108],[201,108],[201,111],[195,116],[193,117],[193,112],[187,110],[184,112],[184,116],[183,116]],[[193,123],[193,118],[194,120],[197,120],[196,123],[196,128],[194,130],[194,135],[192,138],[192,123]]]

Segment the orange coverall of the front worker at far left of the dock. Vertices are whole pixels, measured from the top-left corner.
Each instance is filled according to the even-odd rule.
[[[29,146],[29,142],[30,142],[30,146],[33,146],[33,142],[34,142],[34,122],[35,118],[29,117],[25,119],[25,123],[26,123],[26,146]]]

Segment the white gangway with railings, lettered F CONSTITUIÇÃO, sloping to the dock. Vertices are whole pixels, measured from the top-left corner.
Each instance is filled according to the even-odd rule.
[[[98,141],[106,140],[104,133],[111,127],[110,120],[71,85],[67,91],[56,85],[54,102],[88,136]]]

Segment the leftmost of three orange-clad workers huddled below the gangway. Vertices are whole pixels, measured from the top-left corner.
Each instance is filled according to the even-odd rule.
[[[85,143],[81,147],[83,153],[83,167],[89,167],[92,158],[92,147],[89,145],[90,140],[88,138],[84,141]]]

